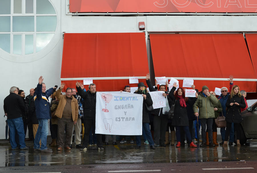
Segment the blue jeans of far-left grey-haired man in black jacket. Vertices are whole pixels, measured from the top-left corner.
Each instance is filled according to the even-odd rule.
[[[15,131],[17,131],[19,136],[19,144],[20,148],[25,148],[26,144],[24,142],[25,134],[24,134],[24,126],[22,118],[14,118],[14,119],[7,119],[7,123],[9,126],[9,137],[12,149],[17,147],[17,143],[15,141]]]

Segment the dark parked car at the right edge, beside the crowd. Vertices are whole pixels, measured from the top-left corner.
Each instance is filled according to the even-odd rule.
[[[241,112],[240,144],[245,144],[247,139],[257,139],[257,102]],[[235,141],[236,143],[236,133]]]

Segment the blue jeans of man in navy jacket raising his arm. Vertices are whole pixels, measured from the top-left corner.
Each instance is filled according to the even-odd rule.
[[[39,141],[41,139],[41,150],[47,149],[48,120],[38,119],[38,128],[34,140],[34,149],[39,149]]]

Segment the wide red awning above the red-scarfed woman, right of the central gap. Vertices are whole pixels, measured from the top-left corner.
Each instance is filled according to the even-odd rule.
[[[256,74],[242,34],[150,34],[150,44],[156,77],[194,78],[199,90],[203,85],[214,90],[228,87],[233,75],[241,90],[256,92]]]

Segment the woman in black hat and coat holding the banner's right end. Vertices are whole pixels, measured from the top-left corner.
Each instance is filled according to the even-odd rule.
[[[150,94],[147,92],[147,88],[144,85],[143,82],[138,83],[138,89],[134,92],[135,94],[141,94],[144,99],[143,99],[143,115],[142,115],[142,128],[145,131],[146,134],[146,138],[149,142],[150,148],[151,149],[155,149],[154,147],[154,141],[152,140],[152,134],[150,131],[150,127],[149,127],[149,115],[147,112],[147,108],[146,108],[146,104],[147,106],[151,106],[152,105],[152,98],[150,96]],[[140,135],[136,136],[136,149],[140,149],[141,146],[141,139],[140,139]]]

